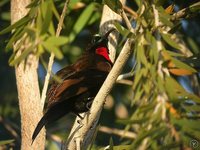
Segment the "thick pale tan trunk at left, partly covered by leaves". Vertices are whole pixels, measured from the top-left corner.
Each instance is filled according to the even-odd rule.
[[[28,9],[26,6],[30,2],[31,0],[11,1],[12,24],[27,14]],[[24,43],[24,45],[27,43]],[[13,46],[14,50],[16,46],[17,43],[15,43]],[[22,53],[22,47],[23,46],[21,46],[21,49],[18,51],[17,56]],[[45,147],[44,129],[40,132],[37,141],[31,145],[31,136],[35,129],[35,125],[43,114],[43,107],[40,102],[37,68],[38,58],[34,54],[30,54],[26,61],[22,61],[18,66],[15,66],[19,109],[21,114],[21,150],[40,150],[44,149]]]

